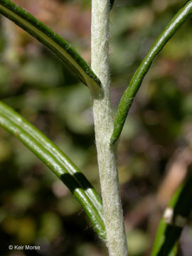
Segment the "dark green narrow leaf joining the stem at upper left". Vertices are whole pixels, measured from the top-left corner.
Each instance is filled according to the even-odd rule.
[[[94,93],[98,93],[101,87],[99,78],[93,73],[90,66],[78,54],[78,52],[61,36],[48,28],[26,10],[9,0],[0,0],[0,14],[14,21],[18,26],[43,43],[49,50],[78,76],[78,78]]]

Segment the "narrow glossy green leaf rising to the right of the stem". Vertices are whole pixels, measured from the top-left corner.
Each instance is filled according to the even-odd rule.
[[[137,69],[136,73],[134,73],[134,76],[129,83],[129,87],[127,87],[127,90],[124,91],[124,94],[122,95],[122,98],[119,102],[117,114],[114,119],[114,130],[110,140],[111,146],[115,144],[115,142],[119,138],[119,135],[122,132],[125,119],[127,117],[130,107],[132,106],[134,97],[137,91],[139,90],[139,87],[142,84],[142,80],[144,79],[144,76],[148,72],[154,58],[156,58],[156,55],[159,54],[161,49],[166,45],[169,39],[172,36],[174,36],[174,33],[176,33],[178,28],[181,27],[183,22],[186,21],[186,19],[188,18],[188,16],[191,15],[191,13],[192,13],[192,1],[188,1],[183,6],[183,8],[181,8],[178,11],[178,13],[174,16],[174,18],[172,18],[169,25],[166,26],[163,33],[161,33],[159,38],[156,40],[154,45],[146,54],[146,57],[142,61],[141,65],[139,65],[139,68]]]

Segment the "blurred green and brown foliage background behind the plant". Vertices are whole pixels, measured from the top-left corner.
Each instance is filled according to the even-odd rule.
[[[14,0],[60,33],[90,63],[90,1]],[[110,21],[112,104],[155,38],[184,4],[116,0]],[[166,203],[192,163],[192,20],[144,79],[119,143],[119,180],[129,255],[149,255]],[[100,191],[90,94],[67,67],[1,17],[1,100],[63,149]],[[36,156],[0,129],[0,255],[106,256],[80,204]],[[178,255],[192,255],[192,221]],[[9,245],[40,245],[11,251]],[[166,255],[165,255],[166,256]]]

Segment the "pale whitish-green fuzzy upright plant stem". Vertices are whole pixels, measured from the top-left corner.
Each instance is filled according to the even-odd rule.
[[[109,0],[92,0],[92,70],[102,82],[102,93],[92,95],[97,161],[110,256],[127,255],[122,203],[119,193],[117,153],[110,146],[113,130],[110,104]]]

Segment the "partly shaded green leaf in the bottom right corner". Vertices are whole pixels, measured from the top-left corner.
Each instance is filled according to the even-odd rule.
[[[159,223],[151,256],[175,256],[178,239],[191,209],[192,175],[177,189]]]

